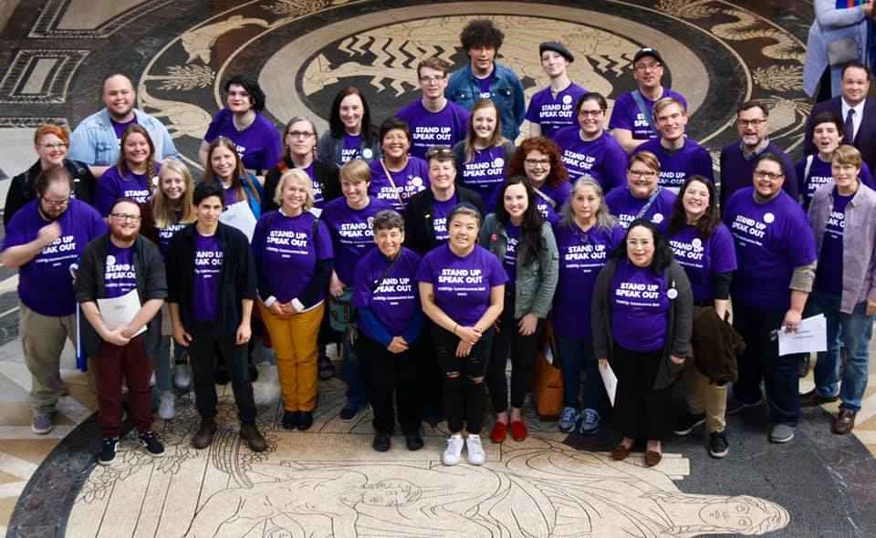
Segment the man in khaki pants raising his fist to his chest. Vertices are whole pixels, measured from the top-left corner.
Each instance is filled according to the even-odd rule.
[[[61,392],[58,371],[64,341],[76,345],[73,277],[79,254],[107,226],[89,204],[70,198],[73,177],[62,167],[36,177],[36,200],[22,207],[6,228],[5,267],[18,269],[21,345],[30,370],[34,433],[52,429]]]

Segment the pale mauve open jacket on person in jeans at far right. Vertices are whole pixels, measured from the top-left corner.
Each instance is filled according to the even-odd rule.
[[[808,220],[819,254],[824,230],[833,211],[834,182],[825,183],[809,202]],[[846,205],[842,234],[842,296],[840,312],[851,314],[855,305],[876,301],[876,191],[858,182],[858,191]]]

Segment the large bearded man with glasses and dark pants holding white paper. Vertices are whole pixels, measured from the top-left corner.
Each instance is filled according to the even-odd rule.
[[[733,325],[746,341],[727,413],[758,406],[767,390],[769,440],[794,439],[800,416],[798,356],[778,355],[778,330],[794,332],[815,280],[815,237],[806,213],[785,191],[782,161],[761,155],[752,187],[735,191],[723,208],[739,268],[730,286]]]

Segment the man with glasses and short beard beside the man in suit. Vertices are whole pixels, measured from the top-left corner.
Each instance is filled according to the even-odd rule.
[[[746,101],[736,109],[736,130],[739,141],[732,142],[721,150],[720,199],[723,207],[730,195],[739,189],[751,186],[755,164],[761,155],[772,153],[782,160],[787,177],[782,188],[797,200],[797,174],[794,162],[787,153],[769,141],[769,110],[758,101]]]

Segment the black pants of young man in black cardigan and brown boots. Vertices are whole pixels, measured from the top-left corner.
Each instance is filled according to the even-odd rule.
[[[216,414],[216,354],[222,353],[225,367],[231,373],[231,388],[235,391],[235,402],[240,421],[255,422],[255,398],[253,383],[249,378],[249,364],[246,360],[246,345],[238,346],[235,335],[214,336],[214,324],[194,322],[189,331],[192,344],[189,346],[189,363],[194,378],[194,399],[198,413],[203,419]]]

